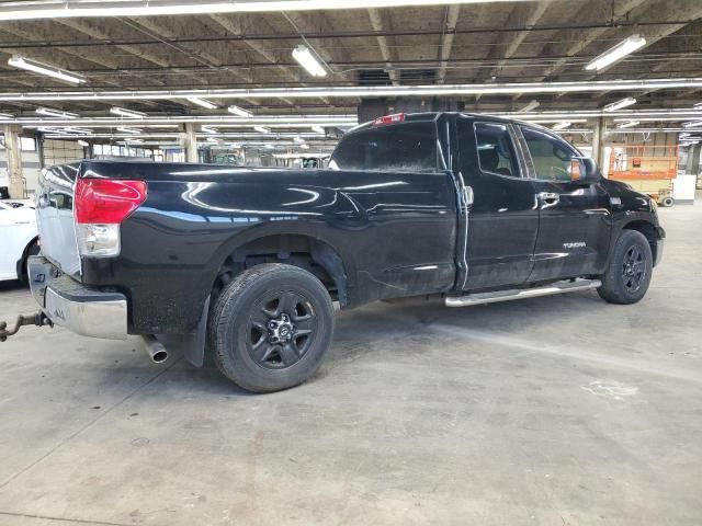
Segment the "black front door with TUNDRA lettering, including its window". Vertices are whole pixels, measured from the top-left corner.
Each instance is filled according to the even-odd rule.
[[[571,180],[568,142],[545,130],[521,127],[539,199],[540,226],[530,282],[598,274],[607,258],[609,197],[600,184]]]

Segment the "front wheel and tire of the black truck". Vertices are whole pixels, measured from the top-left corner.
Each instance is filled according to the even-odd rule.
[[[639,301],[648,290],[653,274],[653,253],[646,237],[636,230],[623,230],[597,289],[610,304],[630,305]]]

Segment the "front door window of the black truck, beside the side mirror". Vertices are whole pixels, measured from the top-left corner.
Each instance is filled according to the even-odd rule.
[[[571,160],[577,153],[567,142],[537,129],[522,127],[526,147],[534,163],[536,179],[571,181]]]

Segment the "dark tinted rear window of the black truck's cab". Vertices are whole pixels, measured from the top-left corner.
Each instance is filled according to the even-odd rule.
[[[347,135],[329,165],[339,170],[433,172],[437,170],[434,123],[407,123]]]

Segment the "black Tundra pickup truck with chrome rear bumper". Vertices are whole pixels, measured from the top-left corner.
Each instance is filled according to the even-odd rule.
[[[141,335],[155,361],[212,356],[258,392],[301,384],[333,301],[439,295],[449,307],[597,288],[646,293],[656,204],[548,129],[484,115],[390,115],[327,170],[83,161],[46,170],[38,323]]]

